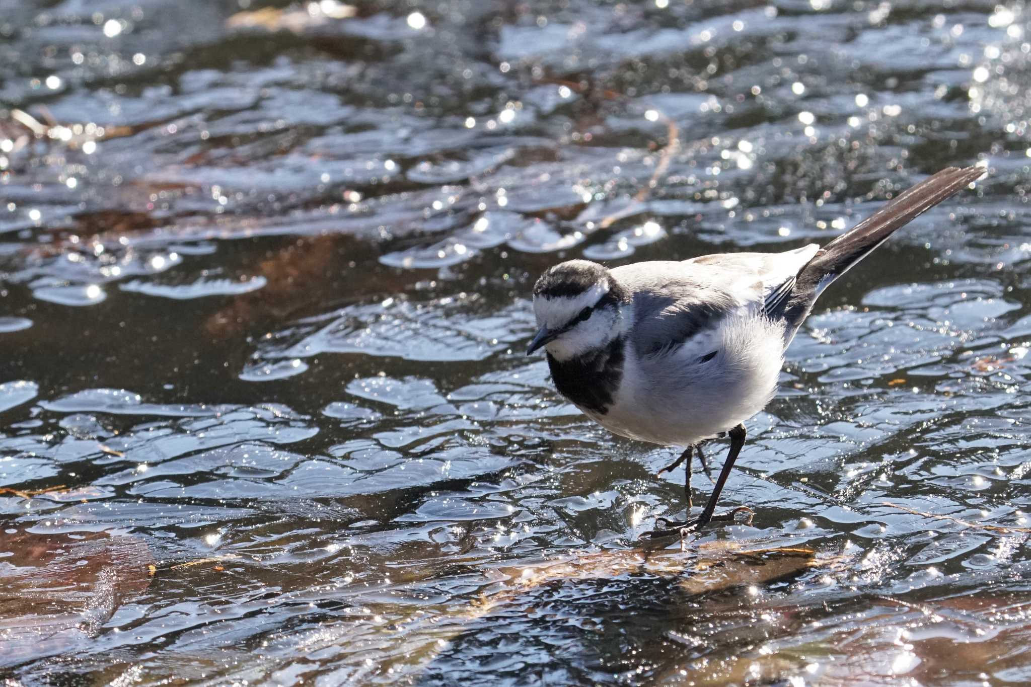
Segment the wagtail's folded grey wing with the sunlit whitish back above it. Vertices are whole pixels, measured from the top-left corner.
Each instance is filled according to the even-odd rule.
[[[632,344],[638,356],[665,355],[691,341],[699,357],[707,335],[738,309],[783,312],[798,271],[819,250],[811,244],[784,253],[721,253],[683,263],[635,263],[612,270],[634,294]]]

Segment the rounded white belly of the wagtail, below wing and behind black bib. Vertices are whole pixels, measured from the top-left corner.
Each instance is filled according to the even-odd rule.
[[[712,359],[698,362],[712,350],[718,351]],[[762,410],[776,394],[783,366],[783,324],[734,315],[709,341],[664,356],[638,358],[628,346],[614,403],[604,415],[588,415],[623,437],[688,446]]]

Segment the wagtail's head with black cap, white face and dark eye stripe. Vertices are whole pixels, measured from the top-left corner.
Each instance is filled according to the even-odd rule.
[[[550,268],[533,287],[537,334],[527,355],[541,346],[558,360],[604,348],[622,331],[626,289],[603,266],[571,260]]]

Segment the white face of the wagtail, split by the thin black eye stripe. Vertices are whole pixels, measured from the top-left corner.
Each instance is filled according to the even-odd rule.
[[[594,308],[607,293],[608,284],[598,283],[577,296],[534,297],[533,313],[537,318],[537,327],[564,329],[579,316],[584,308]],[[588,319],[577,321],[544,348],[557,360],[567,360],[601,348],[620,334],[617,328],[619,319],[619,312],[614,308],[597,308],[591,311]]]

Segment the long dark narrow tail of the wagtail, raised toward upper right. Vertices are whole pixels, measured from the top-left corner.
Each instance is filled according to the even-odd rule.
[[[902,193],[851,231],[821,248],[795,277],[786,308],[788,321],[797,327],[809,313],[817,297],[895,232],[985,174],[983,167],[950,167]]]

